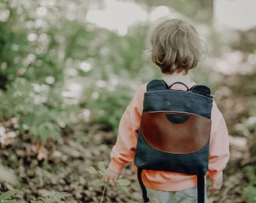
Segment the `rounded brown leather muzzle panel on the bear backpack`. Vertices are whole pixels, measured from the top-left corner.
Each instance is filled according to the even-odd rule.
[[[170,114],[188,115],[184,123],[172,123]],[[147,112],[142,114],[141,132],[154,149],[166,153],[194,153],[209,141],[212,121],[194,114]],[[189,135],[189,136],[187,136]]]

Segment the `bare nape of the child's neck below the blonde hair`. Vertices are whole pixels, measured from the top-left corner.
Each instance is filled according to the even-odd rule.
[[[165,80],[168,85],[171,85],[172,83],[175,83],[175,82],[181,82],[187,85],[192,82],[188,77],[188,74],[184,74],[183,72],[173,73],[173,74],[163,74],[162,79]]]

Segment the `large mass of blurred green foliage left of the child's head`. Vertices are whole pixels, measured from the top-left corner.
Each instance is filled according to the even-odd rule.
[[[117,132],[131,93],[157,72],[142,57],[148,27],[135,26],[133,35],[121,37],[85,21],[87,2],[41,4],[1,3],[10,15],[0,21],[0,120],[15,118],[22,134],[45,142],[78,122],[76,116],[85,109],[90,111],[86,121]],[[47,15],[38,15],[39,8],[46,8]],[[69,8],[81,16],[71,22],[66,14],[76,12]],[[75,96],[74,83],[81,87]]]

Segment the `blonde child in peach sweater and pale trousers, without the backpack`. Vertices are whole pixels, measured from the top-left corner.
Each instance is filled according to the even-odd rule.
[[[152,32],[151,46],[152,61],[160,67],[163,72],[162,79],[168,85],[175,82],[184,83],[189,88],[195,85],[187,73],[197,66],[203,48],[193,26],[184,20],[166,20]],[[117,184],[123,166],[127,162],[134,162],[146,86],[147,84],[144,84],[137,89],[120,120],[117,141],[111,150],[111,162],[102,179],[111,186]],[[177,84],[173,88],[183,90],[184,87]],[[227,165],[229,156],[227,126],[224,117],[213,102],[208,169],[212,185],[209,186],[209,190],[221,189],[222,171]],[[133,168],[136,171],[134,164]],[[197,202],[195,175],[143,170],[142,179],[147,187],[150,202]]]

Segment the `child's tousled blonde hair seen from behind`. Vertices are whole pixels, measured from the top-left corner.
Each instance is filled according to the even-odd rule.
[[[200,37],[194,26],[184,20],[160,23],[151,33],[151,58],[163,73],[195,68],[203,53]]]

